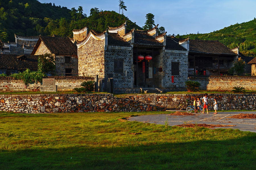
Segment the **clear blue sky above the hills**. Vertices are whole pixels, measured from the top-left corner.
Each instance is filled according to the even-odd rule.
[[[71,9],[83,7],[90,15],[91,8],[119,12],[119,0],[70,1],[39,0],[55,3]],[[144,26],[146,14],[154,14],[155,24],[163,26],[167,34],[210,33],[236,23],[247,22],[256,17],[255,0],[123,0],[127,11],[124,15],[140,27]]]

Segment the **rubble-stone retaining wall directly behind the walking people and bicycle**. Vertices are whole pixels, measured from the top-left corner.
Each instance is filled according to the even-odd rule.
[[[131,100],[152,106],[179,109],[193,105],[194,98],[200,98],[202,103],[203,94],[140,94],[130,97]],[[256,110],[255,94],[208,94],[210,110],[213,110],[214,98],[217,100],[218,110]]]

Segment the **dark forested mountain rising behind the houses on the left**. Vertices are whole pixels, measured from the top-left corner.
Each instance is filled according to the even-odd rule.
[[[82,7],[70,10],[37,0],[0,0],[0,38],[3,41],[15,41],[14,33],[26,36],[55,34],[73,37],[73,29],[88,26],[96,31],[104,31],[108,26],[123,24],[125,20],[128,20],[128,29],[142,29],[115,11],[94,8],[87,17]]]

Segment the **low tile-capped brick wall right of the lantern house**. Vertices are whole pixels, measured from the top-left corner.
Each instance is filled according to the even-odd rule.
[[[256,76],[189,76],[190,81],[201,83],[202,90],[233,90],[235,86],[255,90]]]

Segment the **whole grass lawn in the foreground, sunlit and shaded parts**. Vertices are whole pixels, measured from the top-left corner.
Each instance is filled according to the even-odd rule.
[[[0,113],[1,169],[256,169],[256,133],[119,120],[130,114]]]

